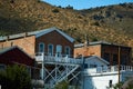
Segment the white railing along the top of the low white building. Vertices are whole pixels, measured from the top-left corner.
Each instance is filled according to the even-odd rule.
[[[120,66],[121,71],[133,71],[132,66]],[[106,66],[106,67],[96,67],[85,69],[88,73],[101,73],[101,72],[113,72],[119,71],[119,66]]]

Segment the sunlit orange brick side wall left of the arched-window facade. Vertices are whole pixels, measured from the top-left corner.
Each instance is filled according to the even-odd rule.
[[[0,48],[18,46],[19,48],[23,49],[30,56],[34,56],[34,47],[35,47],[35,37],[23,37],[12,40],[6,40],[0,42]]]

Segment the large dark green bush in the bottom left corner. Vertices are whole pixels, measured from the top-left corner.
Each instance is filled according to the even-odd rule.
[[[8,66],[0,71],[2,89],[31,89],[31,78],[23,66]]]

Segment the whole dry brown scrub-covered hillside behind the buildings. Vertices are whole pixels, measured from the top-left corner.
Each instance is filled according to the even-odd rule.
[[[76,42],[105,40],[133,47],[133,3],[88,10],[53,7],[40,0],[0,0],[0,36],[58,27]]]

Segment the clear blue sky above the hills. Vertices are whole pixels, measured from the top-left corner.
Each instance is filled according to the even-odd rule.
[[[133,2],[133,0],[42,0],[53,6],[72,6],[74,9],[89,9],[101,6]]]

